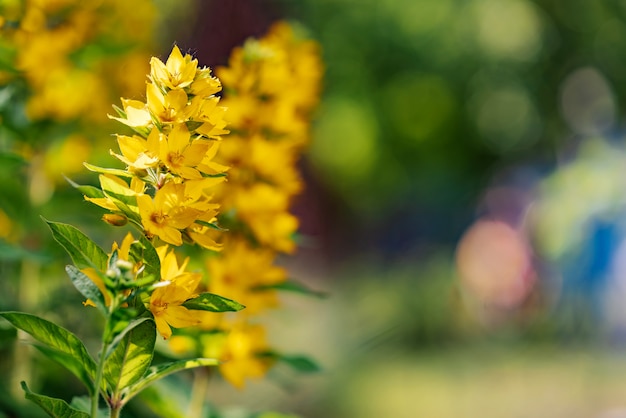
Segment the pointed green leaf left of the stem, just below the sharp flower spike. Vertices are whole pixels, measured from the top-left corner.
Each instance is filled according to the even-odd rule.
[[[48,224],[52,236],[65,248],[76,267],[79,269],[93,267],[98,271],[106,270],[107,254],[87,235],[72,225],[50,222],[46,219],[44,222]]]

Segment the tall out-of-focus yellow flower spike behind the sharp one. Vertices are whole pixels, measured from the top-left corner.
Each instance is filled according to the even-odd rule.
[[[215,198],[219,223],[229,232],[223,251],[206,257],[208,291],[246,310],[223,318],[195,343],[182,344],[185,337],[172,343],[174,349],[199,343],[202,355],[225,360],[220,371],[237,387],[264,376],[272,364],[273,350],[256,319],[278,306],[277,290],[288,280],[275,262],[296,247],[298,220],[289,209],[302,189],[296,164],[309,140],[321,73],[318,45],[284,22],[234,49],[228,67],[216,69],[231,132],[216,156],[230,167],[228,183],[217,187]]]

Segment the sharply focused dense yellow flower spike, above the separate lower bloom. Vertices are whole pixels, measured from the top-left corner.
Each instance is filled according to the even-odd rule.
[[[102,194],[86,199],[112,212],[105,220],[130,220],[149,238],[219,249],[211,190],[227,168],[213,161],[227,133],[220,82],[176,46],[166,63],[150,65],[146,102],[122,99],[119,117],[111,116],[135,131],[117,135],[120,153],[111,152],[126,170],[88,166],[101,173]]]

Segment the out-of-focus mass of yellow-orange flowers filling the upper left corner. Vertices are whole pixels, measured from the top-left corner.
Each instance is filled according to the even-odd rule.
[[[150,0],[0,2],[0,136],[31,163],[32,203],[101,152],[110,103],[144,87],[155,22]]]

